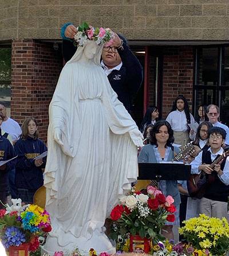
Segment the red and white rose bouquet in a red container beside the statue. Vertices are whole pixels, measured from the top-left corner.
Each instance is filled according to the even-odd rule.
[[[172,196],[165,197],[152,186],[147,187],[147,195],[132,190],[110,213],[110,238],[118,241],[120,235],[129,235],[130,251],[148,253],[152,239],[155,243],[164,239],[160,231],[165,221],[175,220],[173,202]]]

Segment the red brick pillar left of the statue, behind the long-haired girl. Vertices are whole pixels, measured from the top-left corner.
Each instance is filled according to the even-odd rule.
[[[26,117],[35,117],[40,138],[44,141],[48,129],[48,106],[61,68],[61,54],[54,51],[53,44],[13,40],[11,117],[20,125]]]

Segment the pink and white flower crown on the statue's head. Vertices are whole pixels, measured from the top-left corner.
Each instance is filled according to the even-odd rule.
[[[83,22],[77,30],[78,32],[74,36],[77,46],[84,46],[89,40],[95,41],[97,45],[112,44],[113,32],[108,28],[93,28],[93,26]]]

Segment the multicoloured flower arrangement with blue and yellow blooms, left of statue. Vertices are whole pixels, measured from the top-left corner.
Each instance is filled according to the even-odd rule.
[[[0,210],[0,239],[9,255],[29,255],[40,245],[39,236],[52,230],[49,213],[38,205],[21,206],[21,199],[12,199],[13,206]],[[20,254],[21,251],[21,254]]]

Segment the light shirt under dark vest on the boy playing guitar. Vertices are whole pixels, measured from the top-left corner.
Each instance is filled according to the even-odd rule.
[[[208,149],[211,153],[211,161],[213,162],[215,158],[218,156],[218,154],[222,155],[224,150],[223,148],[220,148],[220,150],[216,153],[213,153],[211,148]],[[202,154],[203,151],[198,154],[198,156],[195,157],[194,161],[191,162],[191,173],[192,174],[199,174],[201,171],[199,170],[199,166],[202,165]],[[227,157],[226,164],[223,168],[223,174],[219,176],[219,179],[224,183],[225,185],[229,185],[229,157]]]

